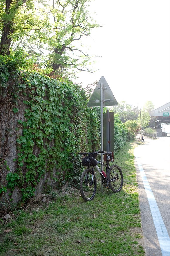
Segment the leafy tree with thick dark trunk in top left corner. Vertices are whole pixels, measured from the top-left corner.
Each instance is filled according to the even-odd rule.
[[[26,37],[29,45],[49,35],[47,13],[41,8],[37,11],[33,0],[0,0],[0,10],[0,54],[10,55],[10,48],[16,50],[17,42],[19,48],[24,49],[23,39]]]

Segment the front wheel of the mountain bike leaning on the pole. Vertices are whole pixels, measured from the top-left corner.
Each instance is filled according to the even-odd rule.
[[[84,201],[93,200],[96,194],[96,177],[93,176],[92,183],[92,170],[86,169],[83,171],[80,178],[80,194]]]

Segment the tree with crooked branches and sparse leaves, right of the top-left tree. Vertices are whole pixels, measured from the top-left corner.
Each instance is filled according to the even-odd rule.
[[[49,38],[49,46],[53,53],[50,61],[53,70],[74,67],[87,71],[86,65],[90,56],[77,45],[82,37],[89,36],[91,29],[98,27],[88,11],[89,0],[53,0],[52,14],[55,35]],[[78,46],[78,47],[77,47]]]

